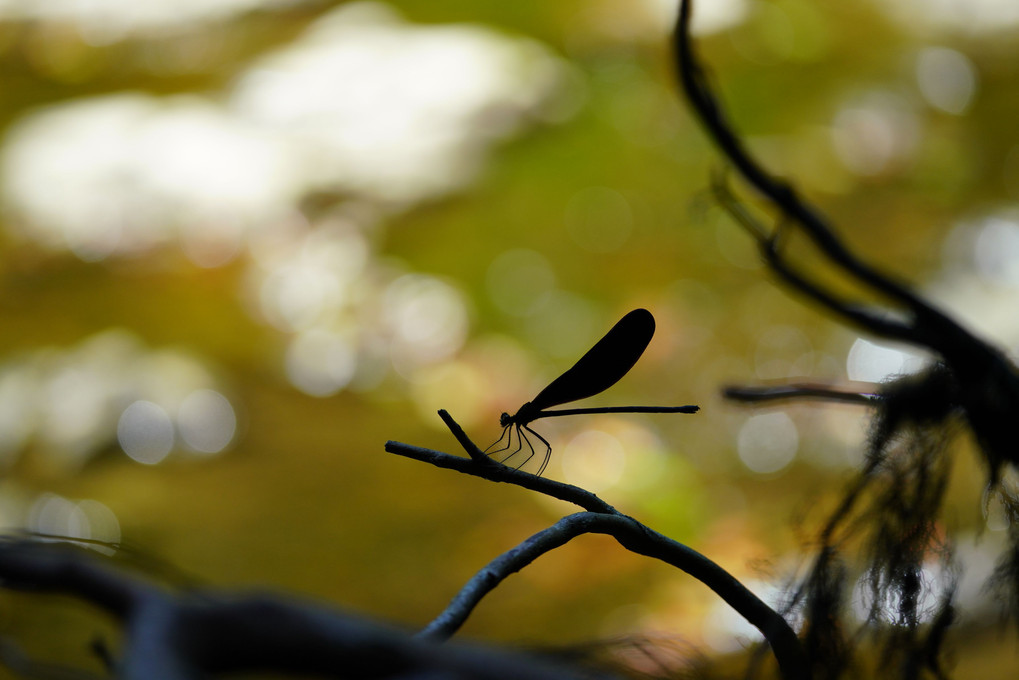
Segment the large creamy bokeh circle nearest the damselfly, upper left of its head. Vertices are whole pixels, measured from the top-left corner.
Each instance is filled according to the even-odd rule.
[[[405,375],[451,356],[467,337],[463,296],[431,276],[407,274],[390,283],[383,313],[392,331],[393,366]]]

